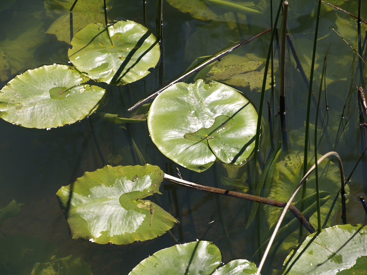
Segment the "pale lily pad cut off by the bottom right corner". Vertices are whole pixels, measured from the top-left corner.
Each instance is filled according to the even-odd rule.
[[[366,225],[335,225],[309,235],[287,257],[286,274],[364,274],[353,267],[367,256]],[[346,270],[349,269],[349,272]]]

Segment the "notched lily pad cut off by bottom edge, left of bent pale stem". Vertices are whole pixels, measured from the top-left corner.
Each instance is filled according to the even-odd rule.
[[[152,256],[142,260],[132,269],[129,275],[256,274],[256,265],[250,261],[237,259],[219,267],[221,260],[221,252],[214,243],[208,241],[189,242],[174,245],[154,253]]]

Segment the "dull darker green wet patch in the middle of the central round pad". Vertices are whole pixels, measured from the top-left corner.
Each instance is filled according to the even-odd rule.
[[[227,115],[218,115],[214,119],[214,124],[209,128],[200,128],[193,133],[185,133],[183,137],[189,140],[203,141],[205,139],[214,139],[217,135],[226,131],[235,121]]]

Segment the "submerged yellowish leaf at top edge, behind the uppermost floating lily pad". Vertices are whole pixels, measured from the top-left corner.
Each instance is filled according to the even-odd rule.
[[[46,33],[55,34],[59,41],[70,43],[70,8],[75,0],[46,0],[47,15],[57,18]],[[109,5],[111,1],[107,0]],[[108,6],[108,9],[110,7]],[[73,8],[73,33],[91,23],[105,22],[103,1],[78,0]],[[109,19],[108,19],[109,21]]]

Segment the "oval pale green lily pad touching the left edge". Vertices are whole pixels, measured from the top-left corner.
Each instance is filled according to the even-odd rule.
[[[66,65],[47,65],[16,76],[0,91],[0,117],[28,128],[72,124],[97,110],[105,90]]]

